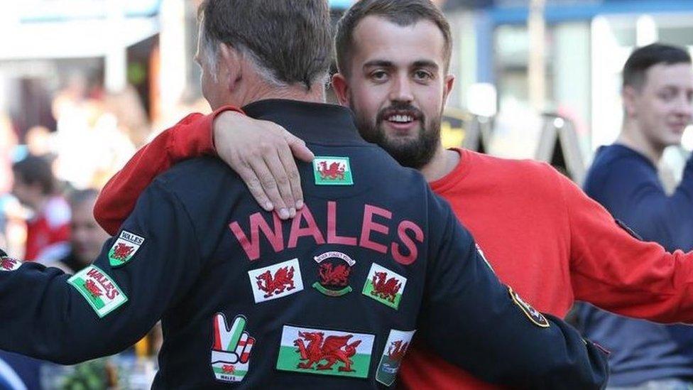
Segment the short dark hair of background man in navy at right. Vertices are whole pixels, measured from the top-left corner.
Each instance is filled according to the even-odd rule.
[[[633,87],[639,90],[645,85],[648,69],[657,64],[674,65],[691,63],[691,55],[683,48],[662,43],[637,48],[631,53],[623,65],[623,87]]]

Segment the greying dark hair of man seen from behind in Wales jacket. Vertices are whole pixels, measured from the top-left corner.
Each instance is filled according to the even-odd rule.
[[[205,0],[203,40],[248,53],[270,81],[307,89],[327,81],[332,26],[327,0]],[[267,77],[266,77],[267,78]],[[321,80],[322,79],[322,80]]]

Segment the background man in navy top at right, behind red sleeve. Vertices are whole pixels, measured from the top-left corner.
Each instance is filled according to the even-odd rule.
[[[667,146],[680,145],[693,112],[693,67],[682,48],[652,44],[631,54],[623,67],[623,129],[602,146],[585,191],[643,239],[669,251],[693,249],[693,159],[667,195],[657,164]],[[584,333],[612,351],[613,389],[691,389],[693,328],[664,326],[580,310]]]

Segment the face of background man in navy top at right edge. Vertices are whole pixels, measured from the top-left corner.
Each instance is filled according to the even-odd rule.
[[[655,148],[681,143],[693,113],[693,67],[689,63],[660,63],[645,73],[640,89],[626,86],[623,102],[643,138]]]

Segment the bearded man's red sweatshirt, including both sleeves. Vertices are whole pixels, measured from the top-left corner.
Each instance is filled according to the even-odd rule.
[[[104,188],[97,221],[114,234],[156,173],[185,156],[214,153],[212,119],[189,116],[138,151]],[[176,136],[182,131],[185,139]],[[474,234],[501,281],[535,308],[563,317],[579,299],[631,317],[693,322],[693,252],[669,254],[631,237],[547,164],[459,153],[457,168],[431,186]],[[400,384],[484,388],[420,346],[404,360]]]

